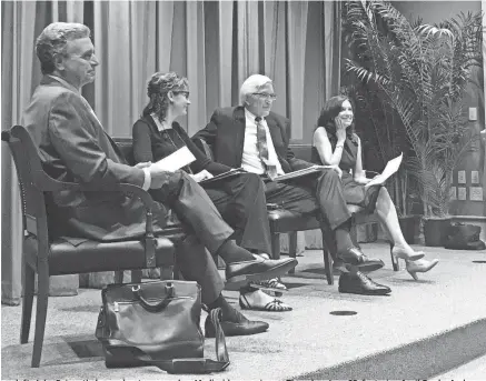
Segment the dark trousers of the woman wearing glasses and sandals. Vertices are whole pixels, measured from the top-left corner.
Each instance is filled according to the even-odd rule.
[[[234,239],[248,250],[271,252],[265,184],[255,173],[202,184],[224,220],[235,229]]]

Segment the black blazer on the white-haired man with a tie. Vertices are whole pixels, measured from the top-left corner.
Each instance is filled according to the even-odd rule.
[[[265,118],[271,140],[284,172],[308,168],[313,163],[297,159],[289,149],[286,131],[290,130],[290,120],[275,112]],[[245,144],[246,117],[242,106],[216,109],[210,122],[199,130],[192,139],[204,139],[215,154],[215,161],[232,167],[241,167]]]

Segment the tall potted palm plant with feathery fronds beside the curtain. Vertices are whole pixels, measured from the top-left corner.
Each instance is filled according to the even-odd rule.
[[[410,23],[388,1],[348,1],[345,24],[353,57],[346,70],[375,83],[398,114],[411,148],[428,245],[442,245],[453,170],[476,147],[465,104],[472,69],[482,67],[482,14],[437,26]]]

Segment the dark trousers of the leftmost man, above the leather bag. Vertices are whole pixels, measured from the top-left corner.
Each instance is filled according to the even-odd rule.
[[[185,279],[201,285],[204,303],[215,301],[225,284],[211,254],[232,235],[234,230],[222,220],[206,191],[182,171],[177,171],[169,183],[150,193],[153,200],[171,208],[187,228],[187,237],[176,243],[180,272]]]

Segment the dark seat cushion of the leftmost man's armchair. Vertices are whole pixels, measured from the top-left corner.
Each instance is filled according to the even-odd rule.
[[[175,245],[171,240],[177,237],[156,239],[156,267],[175,264]],[[23,244],[28,258],[36,258],[38,241],[31,235]],[[50,244],[49,273],[51,275],[72,274],[98,271],[117,271],[145,269],[143,241],[97,242],[85,241],[78,245],[59,239]]]

